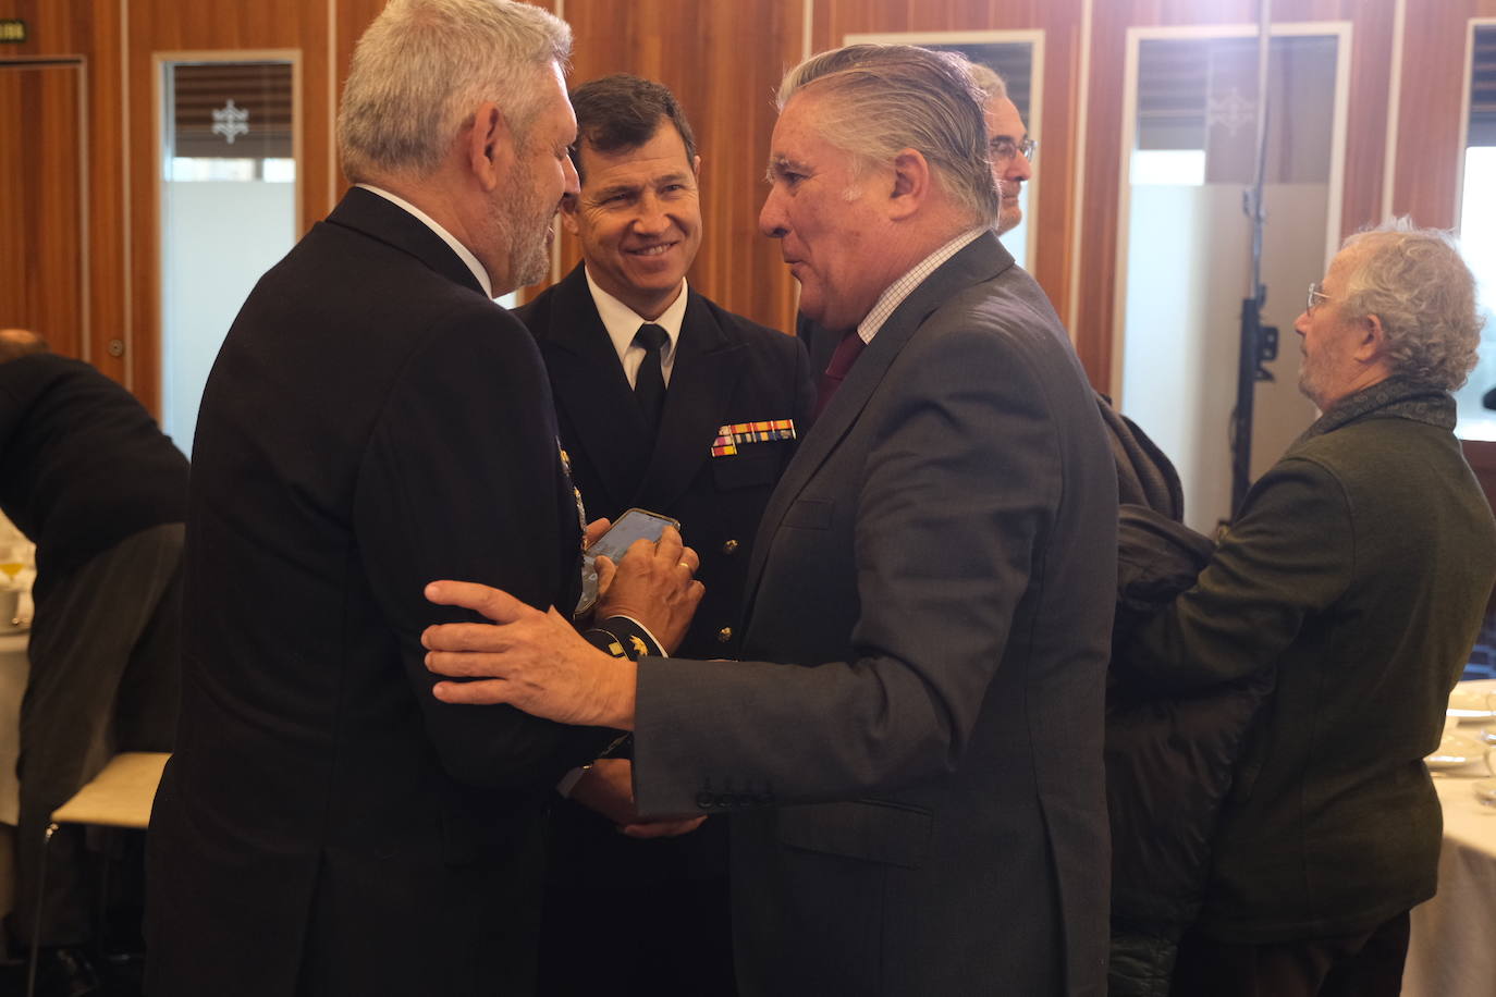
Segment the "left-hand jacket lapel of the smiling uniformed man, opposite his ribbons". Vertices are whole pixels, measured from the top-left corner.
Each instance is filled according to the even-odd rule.
[[[598,508],[627,508],[652,441],[580,263],[555,288],[542,344],[557,405],[607,489]]]

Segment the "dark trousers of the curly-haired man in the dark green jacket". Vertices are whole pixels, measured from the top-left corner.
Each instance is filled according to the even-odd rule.
[[[1248,945],[1198,933],[1179,946],[1171,997],[1397,997],[1408,912],[1339,939]]]

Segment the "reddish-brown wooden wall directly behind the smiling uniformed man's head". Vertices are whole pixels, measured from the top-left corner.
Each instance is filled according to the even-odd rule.
[[[552,9],[555,9],[552,6]],[[794,280],[758,235],[773,93],[800,60],[800,0],[565,0],[574,49],[570,84],[628,72],[669,87],[702,155],[703,242],[691,285],[775,329],[794,327]],[[562,232],[562,272],[579,257]]]

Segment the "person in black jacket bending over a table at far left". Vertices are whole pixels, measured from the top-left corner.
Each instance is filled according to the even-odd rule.
[[[45,895],[42,848],[52,810],[115,752],[172,747],[187,459],[121,386],[4,329],[0,510],[37,567],[7,927],[43,949],[43,993],[87,993],[96,877],[82,830],[52,837]]]

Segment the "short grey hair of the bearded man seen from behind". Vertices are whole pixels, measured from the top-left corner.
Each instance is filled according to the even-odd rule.
[[[435,170],[474,108],[500,105],[518,145],[540,73],[565,67],[571,28],[510,0],[390,0],[353,49],[338,152],[353,182]]]

